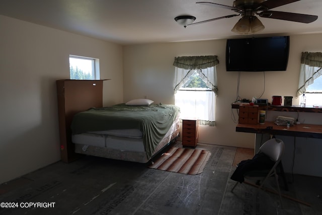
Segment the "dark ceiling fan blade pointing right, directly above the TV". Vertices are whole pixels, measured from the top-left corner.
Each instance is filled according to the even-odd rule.
[[[259,13],[259,16],[264,18],[287,20],[301,23],[311,23],[317,19],[317,16],[314,15],[295,14],[281,11],[263,11]]]

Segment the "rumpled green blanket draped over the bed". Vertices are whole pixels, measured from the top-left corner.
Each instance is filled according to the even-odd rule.
[[[147,158],[150,159],[179,112],[178,106],[168,104],[149,106],[118,104],[92,108],[73,116],[71,130],[73,134],[77,134],[111,129],[139,129],[143,134]]]

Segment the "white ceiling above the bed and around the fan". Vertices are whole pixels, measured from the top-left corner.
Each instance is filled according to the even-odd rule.
[[[280,0],[276,0],[280,1]],[[198,0],[1,0],[0,14],[51,28],[119,44],[172,42],[240,37],[231,32],[240,16],[184,28],[175,22],[192,15],[195,22],[236,14],[227,9],[196,4]],[[232,6],[233,0],[209,0]],[[257,35],[322,32],[322,1],[301,0],[272,9],[316,15],[309,24],[259,19],[265,26]]]

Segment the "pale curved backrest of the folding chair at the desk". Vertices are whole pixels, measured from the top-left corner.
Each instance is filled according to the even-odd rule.
[[[269,139],[260,147],[260,152],[277,162],[281,159],[284,152],[284,142],[277,138]]]

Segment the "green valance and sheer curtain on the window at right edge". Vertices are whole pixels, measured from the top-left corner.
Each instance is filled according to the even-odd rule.
[[[297,96],[322,75],[322,52],[302,52]]]

